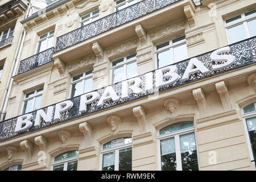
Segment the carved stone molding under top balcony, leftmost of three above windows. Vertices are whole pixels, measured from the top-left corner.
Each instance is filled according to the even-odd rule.
[[[90,64],[96,63],[96,56],[94,54],[88,55],[82,59],[79,59],[69,65],[68,67],[68,72],[73,72],[76,71],[77,69],[84,68]]]

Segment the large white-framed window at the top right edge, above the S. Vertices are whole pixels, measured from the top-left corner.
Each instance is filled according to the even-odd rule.
[[[256,36],[256,10],[230,18],[225,22],[230,44]]]

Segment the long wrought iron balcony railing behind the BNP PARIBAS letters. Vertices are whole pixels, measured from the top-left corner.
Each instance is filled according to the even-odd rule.
[[[100,111],[100,110],[103,110],[103,109],[106,109],[106,108],[109,108],[112,106],[116,106],[116,105],[123,104],[123,103],[129,102],[129,101],[137,100],[138,98],[147,97],[154,93],[162,92],[162,91],[168,90],[168,89],[173,89],[177,86],[184,85],[189,82],[197,81],[197,80],[207,78],[210,76],[218,75],[220,73],[225,73],[232,69],[241,68],[245,65],[250,65],[250,64],[256,63],[256,36],[254,36],[253,38],[250,38],[250,39],[243,40],[238,43],[231,44],[231,45],[229,45],[229,48],[230,48],[230,52],[224,53],[224,54],[233,55],[234,63],[227,68],[222,68],[218,71],[213,71],[212,66],[214,65],[214,62],[210,59],[210,54],[213,51],[210,51],[210,52],[204,53],[202,55],[195,56],[199,61],[201,61],[201,63],[203,63],[205,65],[205,67],[207,67],[209,69],[208,73],[205,73],[205,74],[194,73],[193,75],[191,75],[189,77],[189,80],[187,80],[187,81],[182,81],[181,79],[179,79],[178,81],[174,82],[174,84],[168,84],[166,86],[162,86],[161,88],[157,89],[156,85],[155,85],[156,70],[151,71],[151,72],[148,72],[148,73],[152,73],[153,89],[151,91],[143,91],[141,94],[135,94],[132,92],[132,90],[130,90],[129,96],[127,98],[125,98],[125,99],[121,98],[119,101],[109,100],[109,101],[105,102],[104,105],[102,105],[102,106],[97,106],[97,103],[98,103],[98,100],[97,100],[95,102],[92,102],[92,104],[89,106],[87,111],[85,111],[84,113],[81,113],[79,111],[81,96],[73,97],[73,98],[70,98],[69,100],[66,100],[66,101],[71,101],[73,103],[73,106],[68,111],[65,111],[64,113],[62,113],[60,119],[54,120],[53,119],[54,112],[53,112],[53,114],[51,115],[51,121],[45,122],[45,121],[43,121],[43,119],[41,119],[40,125],[34,126],[37,110],[32,111],[30,113],[30,114],[32,114],[32,119],[31,119],[32,125],[31,125],[30,129],[21,131],[19,133],[15,132],[15,126],[16,126],[18,117],[7,119],[3,122],[0,122],[0,140],[4,140],[7,138],[15,137],[20,134],[29,133],[29,132],[32,132],[35,130],[39,130],[44,127],[55,125],[56,123],[68,121],[70,119],[79,118],[82,115],[94,113],[96,111]],[[177,74],[180,77],[182,77],[184,75],[184,72],[188,66],[189,60],[190,59],[187,59],[187,60],[183,60],[178,63],[172,64],[172,65],[176,65]],[[141,89],[145,90],[144,89],[145,85],[146,85],[145,75],[143,74],[143,75],[139,75],[137,77],[140,78],[142,81]],[[168,79],[169,78],[165,78],[166,81],[168,81]],[[122,82],[117,82],[110,86],[112,86],[112,88],[118,94],[118,96],[122,96],[122,91],[121,91],[122,90]],[[99,98],[101,98],[102,93],[104,93],[104,90],[105,90],[105,88],[100,88],[98,90],[95,90],[95,92],[97,92],[99,94]],[[56,105],[53,104],[51,106],[52,106],[53,110],[55,110]],[[48,107],[42,108],[42,110],[45,113],[47,113],[47,109],[48,109]]]

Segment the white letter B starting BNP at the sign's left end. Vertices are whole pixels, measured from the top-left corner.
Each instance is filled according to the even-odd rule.
[[[33,118],[32,114],[24,114],[22,116],[19,116],[17,119],[16,127],[14,131],[20,132],[20,131],[30,129],[30,127],[32,126],[32,122],[31,122],[32,118]]]

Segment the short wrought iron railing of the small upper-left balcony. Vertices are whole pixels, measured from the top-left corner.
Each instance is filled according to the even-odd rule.
[[[20,61],[18,75],[53,61],[53,52],[54,47],[46,49],[46,51],[39,52],[34,56],[30,56],[27,59]]]

